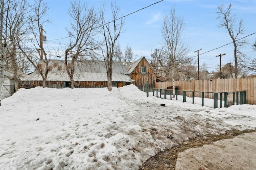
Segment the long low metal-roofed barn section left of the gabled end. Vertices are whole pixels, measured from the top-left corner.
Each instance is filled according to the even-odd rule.
[[[134,80],[124,74],[131,63],[114,62],[112,65],[112,86],[122,87],[132,84]],[[70,87],[70,78],[66,72],[63,60],[50,60],[46,87],[66,88]],[[45,64],[43,64],[43,68]],[[108,78],[104,61],[76,61],[74,70],[75,88],[101,88],[108,86]],[[42,86],[42,76],[35,70],[28,77],[22,79],[22,86]]]

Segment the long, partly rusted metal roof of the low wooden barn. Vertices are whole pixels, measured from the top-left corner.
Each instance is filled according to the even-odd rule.
[[[69,61],[70,63],[70,61]],[[114,62],[112,64],[112,81],[132,82],[129,75],[124,74],[130,66],[130,62]],[[50,60],[47,81],[70,81],[66,66],[63,60]],[[44,65],[45,67],[45,65]],[[38,71],[34,71],[22,81],[42,81],[42,76]],[[77,61],[75,62],[74,81],[107,81],[106,67],[104,61]]]

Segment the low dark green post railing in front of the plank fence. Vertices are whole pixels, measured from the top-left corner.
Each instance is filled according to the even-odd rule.
[[[202,95],[202,106],[204,106],[204,96],[205,93],[213,94],[213,108],[218,107],[218,98],[220,100],[220,107],[222,107],[222,101],[224,100],[224,107],[228,107],[228,94],[232,94],[232,102],[238,104],[246,104],[246,92],[245,91],[236,91],[236,92],[198,92],[198,91],[190,91],[190,90],[173,90],[173,89],[162,89],[162,88],[153,88],[153,96],[158,97],[158,90],[160,92],[160,98],[162,98],[162,94],[164,95],[163,99],[167,99],[166,96],[170,95],[170,100],[172,100],[173,91],[175,91],[176,100],[178,100],[178,92],[182,92],[183,102],[186,102],[186,92],[190,92],[192,94],[192,103],[194,104],[195,93],[201,93]],[[239,98],[240,96],[240,98]],[[240,99],[240,100],[239,100]]]

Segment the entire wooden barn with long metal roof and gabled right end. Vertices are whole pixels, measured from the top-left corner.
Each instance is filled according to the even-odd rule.
[[[70,87],[70,78],[66,72],[63,60],[50,60],[46,87]],[[42,66],[42,68],[45,67]],[[108,86],[108,78],[104,61],[76,61],[74,66],[75,88],[102,88]],[[140,90],[146,91],[146,81],[150,82],[153,90],[156,82],[154,71],[145,57],[134,62],[113,62],[112,86],[122,87],[135,84]],[[42,86],[42,77],[35,70],[26,78],[21,79],[21,85],[27,87]],[[145,86],[145,87],[144,87]]]

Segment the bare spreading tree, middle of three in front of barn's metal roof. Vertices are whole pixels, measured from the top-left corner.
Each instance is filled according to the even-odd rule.
[[[94,50],[100,47],[100,43],[95,39],[99,19],[93,7],[89,8],[80,1],[71,2],[68,13],[71,17],[71,28],[67,29],[70,45],[65,50],[65,65],[71,88],[74,88],[75,61],[92,56]]]

